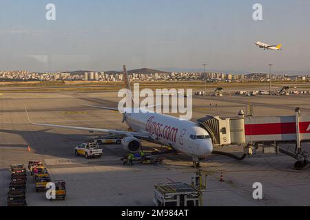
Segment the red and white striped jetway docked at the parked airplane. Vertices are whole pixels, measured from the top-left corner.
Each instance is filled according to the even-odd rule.
[[[294,143],[296,152],[293,157],[298,160],[307,160],[307,153],[302,152],[301,143],[310,142],[310,115],[300,115],[296,109],[295,115],[260,116],[223,118],[206,116],[198,123],[209,132],[214,145],[225,146],[232,144]]]

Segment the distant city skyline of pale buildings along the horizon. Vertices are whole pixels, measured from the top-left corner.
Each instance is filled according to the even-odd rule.
[[[225,74],[219,72],[156,72],[154,69],[136,69],[129,71],[132,81],[203,81],[208,83],[218,82],[268,82],[277,81],[310,81],[310,74],[307,76],[286,74]],[[0,82],[14,81],[101,81],[101,82],[122,82],[123,72],[54,72],[54,73],[30,73],[25,70],[16,72],[0,71]]]

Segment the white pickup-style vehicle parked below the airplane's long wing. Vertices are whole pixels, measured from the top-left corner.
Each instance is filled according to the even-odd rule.
[[[103,151],[96,142],[82,143],[74,148],[76,156],[83,155],[87,159],[90,157],[101,157]]]

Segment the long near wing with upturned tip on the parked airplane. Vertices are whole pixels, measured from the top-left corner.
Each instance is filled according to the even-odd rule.
[[[43,123],[34,123],[30,120],[28,111],[25,108],[25,111],[27,113],[28,121],[31,124],[39,125],[39,126],[50,126],[50,127],[56,127],[61,129],[75,129],[75,130],[82,130],[82,131],[90,131],[90,132],[102,132],[102,133],[114,133],[119,135],[132,135],[134,137],[140,137],[140,138],[147,138],[147,139],[153,139],[153,135],[150,133],[142,133],[142,132],[131,132],[131,131],[118,131],[118,130],[112,130],[112,129],[96,129],[96,128],[87,128],[87,127],[81,127],[81,126],[67,126],[67,125],[59,125],[59,124],[43,124]]]

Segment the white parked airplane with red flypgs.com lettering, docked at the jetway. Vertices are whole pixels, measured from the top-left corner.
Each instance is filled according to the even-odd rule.
[[[131,91],[130,80],[125,65],[123,69],[125,87]],[[118,111],[117,108],[110,107],[92,105],[88,105],[88,107]],[[209,133],[195,122],[180,120],[174,116],[156,113],[147,109],[139,108],[136,110],[138,111],[125,107],[122,112],[123,122],[125,122],[132,131],[117,131],[112,129],[34,123],[31,122],[27,109],[25,109],[29,122],[34,125],[125,135],[121,144],[126,151],[131,153],[140,151],[142,148],[141,140],[146,140],[163,146],[172,147],[176,151],[191,156],[196,167],[200,166],[200,159],[212,153],[213,143]]]

